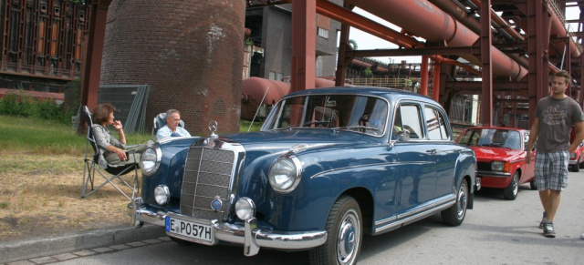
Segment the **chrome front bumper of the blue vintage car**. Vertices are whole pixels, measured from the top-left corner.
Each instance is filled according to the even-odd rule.
[[[163,211],[154,212],[143,206],[142,199],[136,198],[128,204],[128,215],[132,218],[132,226],[141,228],[143,223],[151,223],[164,227],[164,220],[169,214]],[[215,244],[225,241],[244,246],[245,256],[254,256],[260,248],[276,250],[306,250],[318,247],[327,240],[326,231],[280,232],[257,228],[255,218],[245,220],[245,225],[211,221],[214,229]],[[186,238],[181,238],[188,240]]]

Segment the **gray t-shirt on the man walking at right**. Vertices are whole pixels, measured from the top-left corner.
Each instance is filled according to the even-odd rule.
[[[536,117],[539,118],[537,151],[545,153],[568,150],[572,126],[584,120],[582,108],[570,97],[542,98],[537,103]]]

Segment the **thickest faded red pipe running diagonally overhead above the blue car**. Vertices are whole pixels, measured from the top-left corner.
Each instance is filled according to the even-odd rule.
[[[479,37],[427,0],[346,0],[346,2],[401,26],[414,36],[422,36],[428,42],[445,41],[447,46],[473,46]],[[514,80],[527,76],[526,68],[500,50],[491,46],[491,53],[493,72],[496,76],[510,76]],[[475,65],[480,64],[473,55],[462,57]]]

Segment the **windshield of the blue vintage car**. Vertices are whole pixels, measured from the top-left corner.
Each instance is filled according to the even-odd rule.
[[[262,130],[289,127],[336,128],[380,136],[385,131],[388,104],[377,97],[315,95],[278,102]]]

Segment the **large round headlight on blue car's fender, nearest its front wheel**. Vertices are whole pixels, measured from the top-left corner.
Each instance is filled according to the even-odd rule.
[[[279,158],[270,167],[268,177],[272,188],[287,193],[297,187],[301,173],[300,161],[297,158]]]

